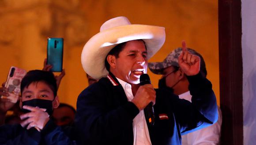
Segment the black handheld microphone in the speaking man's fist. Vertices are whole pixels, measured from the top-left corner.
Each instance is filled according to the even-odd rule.
[[[139,85],[142,86],[144,84],[151,84],[150,78],[148,76],[148,74],[142,74],[139,77]],[[150,102],[146,108],[144,109],[144,113],[146,115],[146,118],[148,120],[148,122],[151,125],[154,125],[154,108],[153,108],[153,103]]]

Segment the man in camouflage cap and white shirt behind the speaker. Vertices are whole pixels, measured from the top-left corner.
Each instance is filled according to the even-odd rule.
[[[195,54],[200,57],[200,73],[203,77],[207,76],[207,70],[205,62],[201,54],[195,50],[188,48],[191,54]],[[188,90],[188,79],[182,69],[180,69],[178,58],[182,52],[182,48],[179,47],[173,50],[163,62],[148,63],[148,67],[151,72],[162,75],[159,80],[158,87],[168,87],[179,95],[179,98],[185,99],[191,102],[191,94]],[[199,145],[199,144],[211,144],[218,145],[222,124],[222,113],[218,107],[218,121],[206,128],[196,130],[192,133],[182,135],[182,145]]]

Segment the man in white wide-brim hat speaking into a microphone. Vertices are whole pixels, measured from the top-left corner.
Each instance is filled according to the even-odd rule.
[[[152,25],[132,25],[125,17],[105,22],[84,46],[83,69],[99,79],[78,97],[75,130],[78,144],[181,145],[181,133],[215,123],[216,98],[211,83],[200,73],[200,58],[183,43],[179,64],[188,75],[192,103],[168,89],[139,85],[147,73],[147,60],[163,45],[165,30]],[[144,109],[154,104],[154,125]],[[181,109],[182,108],[182,109]]]

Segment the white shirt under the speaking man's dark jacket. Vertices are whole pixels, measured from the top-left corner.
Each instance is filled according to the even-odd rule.
[[[117,78],[119,83],[122,85],[126,94],[127,100],[132,101],[132,86],[129,83],[124,82]],[[144,110],[139,111],[139,114],[133,119],[133,145],[151,145],[149,132],[147,128],[147,122],[144,115]]]

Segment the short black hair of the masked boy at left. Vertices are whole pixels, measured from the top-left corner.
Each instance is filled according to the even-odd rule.
[[[40,81],[46,83],[50,87],[50,89],[53,91],[54,97],[56,97],[57,95],[56,79],[52,72],[48,72],[44,70],[30,70],[29,72],[26,73],[26,75],[23,77],[20,84],[21,94],[25,87],[27,88],[31,83],[38,83]]]

